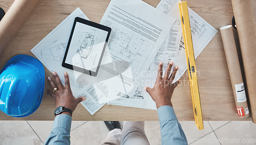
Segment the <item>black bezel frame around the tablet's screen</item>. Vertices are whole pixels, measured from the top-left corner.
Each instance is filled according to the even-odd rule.
[[[73,36],[74,30],[75,30],[76,22],[80,22],[80,23],[83,23],[84,25],[92,26],[92,27],[95,27],[97,29],[101,29],[101,30],[104,30],[104,31],[108,32],[108,35],[106,36],[105,44],[104,44],[104,47],[103,47],[103,50],[102,50],[102,53],[101,53],[101,56],[100,56],[100,60],[99,60],[99,63],[98,63],[98,66],[97,66],[97,69],[96,69],[95,72],[91,71],[91,70],[88,70],[88,69],[84,69],[84,68],[81,68],[81,67],[77,67],[77,66],[73,66],[71,64],[65,63],[67,55],[68,55],[68,51],[69,51],[69,46],[70,46],[70,43],[71,43],[71,40],[72,40],[72,36]],[[90,75],[90,76],[96,77],[97,74],[98,74],[99,66],[100,66],[105,48],[106,48],[106,44],[108,43],[108,40],[109,40],[109,37],[110,37],[110,33],[111,33],[111,28],[109,28],[109,27],[100,25],[99,23],[95,23],[95,22],[92,22],[92,21],[89,21],[89,20],[86,20],[86,19],[83,19],[83,18],[80,18],[80,17],[76,17],[75,21],[74,21],[74,24],[73,24],[71,34],[70,34],[70,37],[69,37],[69,42],[68,42],[68,45],[67,45],[65,56],[64,56],[63,61],[62,61],[62,66],[66,67],[66,68],[69,68],[69,69],[72,69],[72,70],[75,70],[75,71],[82,72],[82,73]]]

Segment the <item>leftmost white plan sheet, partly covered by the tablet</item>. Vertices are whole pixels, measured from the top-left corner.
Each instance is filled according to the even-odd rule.
[[[65,20],[63,20],[52,32],[42,39],[31,52],[52,72],[56,71],[62,84],[65,84],[63,73],[68,72],[73,95],[78,98],[85,96],[86,100],[81,104],[94,114],[105,103],[110,93],[109,86],[99,81],[90,79],[77,79],[80,72],[61,66],[67,43],[70,37],[75,17],[88,19],[88,17],[77,8]]]

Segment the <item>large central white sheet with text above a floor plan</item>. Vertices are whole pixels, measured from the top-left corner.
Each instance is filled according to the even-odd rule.
[[[110,100],[135,93],[175,20],[140,0],[110,2],[100,21],[112,29],[102,59],[110,65],[97,76],[112,87]]]

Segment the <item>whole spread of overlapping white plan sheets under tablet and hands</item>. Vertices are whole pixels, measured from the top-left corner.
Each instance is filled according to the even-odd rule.
[[[85,96],[81,104],[93,115],[106,103],[156,109],[142,88],[153,87],[159,62],[179,66],[175,81],[187,69],[177,0],[162,0],[154,8],[140,0],[112,0],[100,24],[112,28],[97,77],[61,66],[75,17],[88,19],[77,8],[31,52],[52,72],[69,73],[73,95]],[[217,33],[189,9],[190,25],[197,57]],[[88,19],[89,20],[89,19]]]

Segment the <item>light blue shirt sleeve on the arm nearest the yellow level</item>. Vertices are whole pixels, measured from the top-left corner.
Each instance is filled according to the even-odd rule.
[[[172,106],[161,106],[157,109],[161,127],[162,144],[187,144],[186,136],[175,115]]]

